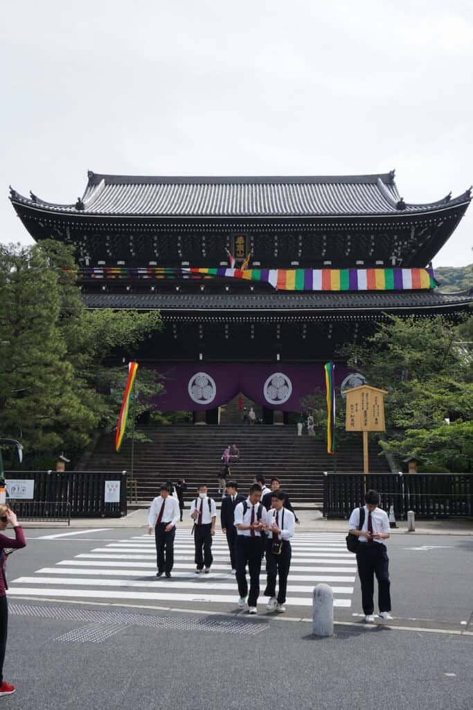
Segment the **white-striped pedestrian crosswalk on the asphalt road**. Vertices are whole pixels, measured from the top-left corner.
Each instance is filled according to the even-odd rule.
[[[355,556],[347,552],[338,533],[304,532],[294,535],[287,606],[310,607],[316,584],[329,584],[333,604],[350,607],[355,582]],[[172,579],[156,577],[154,535],[140,535],[95,547],[90,552],[62,559],[55,567],[42,567],[32,576],[11,581],[11,596],[42,598],[110,599],[130,603],[156,601],[168,606],[178,602],[236,606],[238,589],[230,571],[226,537],[217,532],[212,545],[210,574],[196,575],[194,541],[189,530],[177,530]],[[262,565],[262,591],[265,564]],[[260,605],[267,599],[260,596]]]

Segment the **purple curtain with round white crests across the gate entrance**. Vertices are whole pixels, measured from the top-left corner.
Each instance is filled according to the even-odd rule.
[[[323,366],[316,365],[162,365],[165,393],[155,398],[162,411],[206,410],[232,400],[239,392],[253,402],[287,412],[301,409],[300,400],[325,387]],[[335,386],[350,371],[338,366]]]

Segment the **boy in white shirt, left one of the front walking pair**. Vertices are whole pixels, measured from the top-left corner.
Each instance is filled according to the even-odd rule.
[[[253,484],[246,501],[238,503],[235,508],[235,541],[236,579],[238,583],[238,608],[245,607],[248,595],[246,566],[250,572],[250,594],[248,595],[248,611],[257,613],[257,601],[260,596],[261,572],[261,532],[265,529],[266,510],[260,503],[261,486]]]

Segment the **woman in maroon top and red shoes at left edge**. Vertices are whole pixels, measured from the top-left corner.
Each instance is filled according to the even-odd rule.
[[[5,550],[10,549],[13,552],[13,550],[20,550],[21,547],[26,547],[25,536],[21,526],[18,525],[15,513],[8,506],[0,506],[0,531],[6,530],[6,526],[9,523],[15,529],[15,539],[13,540],[11,537],[0,534],[0,697],[2,695],[11,695],[11,693],[15,692],[15,687],[4,680],[6,632],[9,623],[9,608],[6,603],[6,589],[9,588],[8,584],[6,584],[6,559],[11,554],[5,552]]]

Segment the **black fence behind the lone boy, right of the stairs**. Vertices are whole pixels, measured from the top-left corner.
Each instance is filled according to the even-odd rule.
[[[399,520],[406,520],[408,510],[417,518],[473,517],[473,474],[325,474],[323,515],[348,518],[369,488]]]

